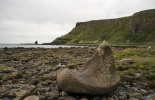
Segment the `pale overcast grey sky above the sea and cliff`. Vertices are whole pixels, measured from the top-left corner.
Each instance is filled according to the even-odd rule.
[[[155,0],[0,0],[0,43],[49,43],[77,22],[147,9],[155,9]]]

